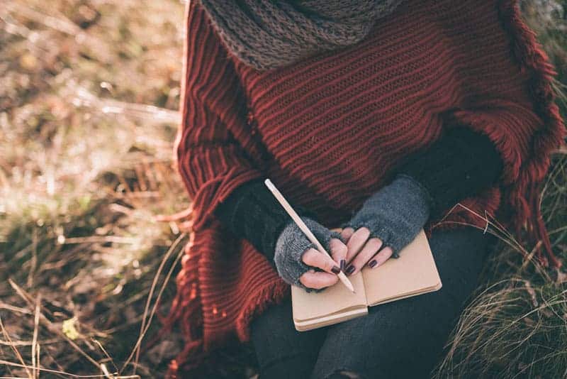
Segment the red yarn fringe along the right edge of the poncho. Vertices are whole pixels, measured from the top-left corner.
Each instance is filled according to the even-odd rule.
[[[537,42],[535,33],[527,27],[522,20],[520,6],[517,0],[501,0],[498,4],[500,22],[510,38],[510,48],[512,56],[520,67],[520,71],[529,75],[527,91],[534,104],[534,113],[541,119],[542,127],[534,131],[532,139],[532,152],[529,154],[532,159],[522,163],[512,145],[508,142],[503,133],[494,126],[483,124],[481,131],[488,133],[493,141],[498,145],[499,150],[510,163],[506,178],[516,177],[515,182],[507,188],[502,197],[502,205],[488,202],[484,205],[484,212],[493,216],[495,209],[498,209],[503,219],[510,219],[510,226],[515,231],[515,237],[520,245],[522,241],[522,230],[526,232],[527,243],[534,246],[534,253],[538,262],[545,268],[549,268],[551,261],[552,268],[561,268],[563,262],[554,254],[546,229],[543,216],[541,214],[541,189],[545,184],[545,177],[549,170],[551,152],[564,143],[566,129],[557,104],[555,104],[556,94],[551,82],[557,75],[553,65],[549,62],[549,57]],[[482,123],[481,119],[474,114],[461,116],[460,121],[470,123]],[[439,221],[437,224],[428,224],[427,236],[430,237],[432,229],[451,229],[453,227],[468,224],[482,227],[488,224],[485,215],[471,215],[470,208],[474,207],[468,201],[464,201],[462,209],[453,212],[451,209],[445,216],[450,221]],[[466,212],[462,212],[466,210]],[[461,211],[461,212],[459,212]],[[510,217],[510,214],[513,216]]]

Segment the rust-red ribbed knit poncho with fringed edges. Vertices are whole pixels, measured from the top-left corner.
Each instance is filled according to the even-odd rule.
[[[427,233],[463,222],[483,228],[488,215],[520,236],[525,223],[525,242],[543,242],[541,261],[560,264],[539,194],[549,154],[566,133],[550,84],[555,72],[517,1],[407,0],[361,43],[267,72],[232,57],[196,1],[186,11],[176,153],[194,233],[164,320],[163,331],[179,322],[186,341],[170,374],[195,367],[230,336],[248,341],[251,319],[289,295],[266,258],[213,214],[255,177],[269,177],[332,228],[405,156],[447,125],[466,125],[495,143],[504,173],[444,219],[430,219]]]

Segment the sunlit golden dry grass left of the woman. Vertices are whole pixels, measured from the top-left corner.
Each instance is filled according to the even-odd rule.
[[[189,206],[172,167],[183,9],[1,5],[0,375],[153,377],[179,348],[134,349],[186,238],[155,219]]]

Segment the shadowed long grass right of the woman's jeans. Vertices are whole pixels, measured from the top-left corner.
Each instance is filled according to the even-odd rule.
[[[567,257],[567,157],[558,155],[546,187],[545,218],[555,251]],[[546,270],[490,223],[501,240],[476,293],[447,342],[435,378],[564,378],[567,275]]]

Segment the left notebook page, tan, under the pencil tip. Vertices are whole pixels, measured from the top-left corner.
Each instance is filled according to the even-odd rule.
[[[349,312],[359,307],[366,308],[366,293],[362,274],[349,276],[355,294],[339,280],[335,285],[327,287],[322,292],[306,292],[303,288],[291,286],[291,303],[293,319],[303,322],[310,319],[326,317],[338,312]]]

